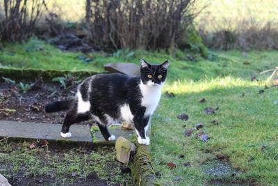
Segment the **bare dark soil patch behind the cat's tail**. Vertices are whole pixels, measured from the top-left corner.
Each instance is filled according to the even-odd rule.
[[[29,82],[28,84],[32,84]],[[33,123],[63,123],[65,111],[46,114],[44,106],[50,102],[74,97],[76,84],[63,88],[60,84],[47,83],[24,91],[19,84],[0,83],[0,120]],[[92,121],[79,123],[92,125]]]

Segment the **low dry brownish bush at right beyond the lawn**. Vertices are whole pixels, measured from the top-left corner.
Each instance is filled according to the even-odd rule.
[[[213,49],[278,49],[278,24],[243,20],[234,29],[218,28],[218,31],[199,29],[203,42]]]

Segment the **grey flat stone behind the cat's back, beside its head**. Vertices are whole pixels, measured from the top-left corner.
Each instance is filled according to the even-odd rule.
[[[122,73],[124,75],[140,75],[140,66],[134,63],[107,63],[104,69],[108,72]]]

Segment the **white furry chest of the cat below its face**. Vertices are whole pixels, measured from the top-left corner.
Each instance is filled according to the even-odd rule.
[[[139,87],[142,93],[141,105],[146,107],[144,116],[151,116],[161,99],[161,86],[150,87],[141,82]]]

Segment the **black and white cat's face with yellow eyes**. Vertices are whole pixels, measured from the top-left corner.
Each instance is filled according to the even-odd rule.
[[[168,66],[169,61],[158,65],[149,64],[144,59],[141,59],[140,76],[142,83],[151,87],[161,86],[165,82]]]

